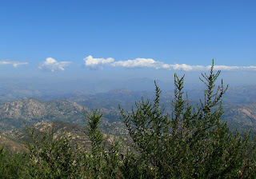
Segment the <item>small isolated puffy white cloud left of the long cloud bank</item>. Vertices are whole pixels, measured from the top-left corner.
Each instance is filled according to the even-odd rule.
[[[66,66],[70,66],[71,62],[57,62],[54,58],[46,58],[45,62],[42,62],[38,69],[54,71],[64,71]]]

